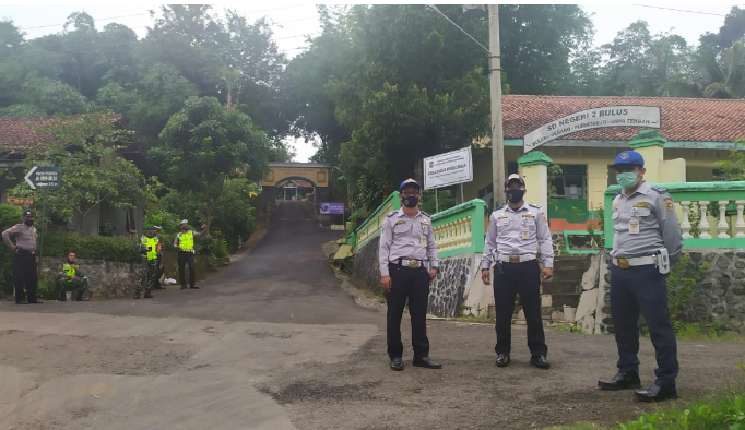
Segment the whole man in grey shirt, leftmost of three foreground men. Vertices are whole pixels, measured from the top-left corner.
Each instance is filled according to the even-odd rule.
[[[393,370],[403,370],[401,315],[406,299],[412,319],[413,366],[442,368],[429,358],[427,303],[429,283],[437,276],[439,261],[429,215],[417,207],[421,189],[414,179],[401,182],[399,199],[403,205],[388,214],[380,230],[380,286],[388,303],[386,331]]]

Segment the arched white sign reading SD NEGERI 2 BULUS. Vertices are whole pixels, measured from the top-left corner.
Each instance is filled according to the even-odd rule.
[[[525,134],[525,152],[577,131],[603,127],[660,128],[659,106],[603,106],[567,115]]]

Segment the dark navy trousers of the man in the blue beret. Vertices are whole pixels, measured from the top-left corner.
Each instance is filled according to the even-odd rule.
[[[618,346],[618,371],[639,373],[639,313],[645,316],[654,345],[658,384],[675,386],[677,343],[670,322],[667,282],[654,264],[611,266],[611,318]]]

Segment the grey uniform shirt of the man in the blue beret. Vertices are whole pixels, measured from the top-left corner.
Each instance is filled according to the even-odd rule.
[[[613,251],[615,258],[653,255],[666,248],[671,262],[681,260],[683,236],[673,199],[664,188],[647,181],[630,196],[620,192],[613,199]],[[635,232],[636,223],[639,231]]]

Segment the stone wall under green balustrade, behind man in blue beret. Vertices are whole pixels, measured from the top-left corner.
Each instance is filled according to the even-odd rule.
[[[709,267],[699,286],[700,309],[694,321],[710,320],[726,331],[745,336],[745,250],[686,249],[690,268],[706,263]],[[582,296],[577,323],[589,333],[613,333],[611,320],[611,255],[604,250],[593,255],[582,279]]]

